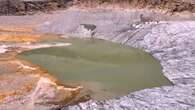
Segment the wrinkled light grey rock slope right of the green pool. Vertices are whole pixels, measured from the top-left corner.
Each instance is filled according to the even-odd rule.
[[[140,36],[139,32],[144,31],[146,33]],[[142,25],[139,32],[133,37],[130,36],[131,38],[124,44],[151,53],[160,61],[164,75],[174,85],[141,90],[119,99],[89,101],[62,110],[195,109],[195,22],[177,21]],[[124,39],[113,41],[121,43]]]

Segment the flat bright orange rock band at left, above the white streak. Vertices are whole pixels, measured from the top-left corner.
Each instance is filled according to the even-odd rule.
[[[33,26],[0,26],[0,42],[37,42],[59,39],[58,35],[35,34]]]

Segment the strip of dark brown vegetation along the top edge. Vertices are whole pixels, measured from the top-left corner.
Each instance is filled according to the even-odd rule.
[[[158,8],[169,12],[195,12],[194,0],[0,0],[0,15],[24,15],[64,9],[72,5],[97,7],[117,5],[122,8]]]

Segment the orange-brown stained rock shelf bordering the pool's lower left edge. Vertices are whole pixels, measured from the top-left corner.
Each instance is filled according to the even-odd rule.
[[[25,94],[30,93],[32,90],[34,90],[33,88],[36,86],[37,81],[40,77],[48,78],[48,80],[55,85],[54,88],[58,91],[57,93],[59,93],[57,96],[60,96],[60,94],[64,94],[64,98],[62,98],[62,103],[67,103],[71,101],[80,92],[80,88],[62,84],[55,77],[48,74],[46,70],[40,68],[38,65],[32,64],[31,62],[20,59],[12,59],[11,61],[9,60],[4,62],[10,64],[9,68],[13,66],[14,68],[18,68],[18,70],[16,73],[13,74],[0,75],[0,103],[3,103],[7,97],[23,96]],[[35,69],[28,70],[26,68],[21,68],[21,64],[33,67]],[[24,79],[24,77],[32,78]],[[15,84],[17,85],[12,87]]]

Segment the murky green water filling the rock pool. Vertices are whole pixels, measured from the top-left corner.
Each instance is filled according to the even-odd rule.
[[[66,84],[83,85],[84,93],[96,100],[171,84],[163,76],[159,62],[141,50],[103,40],[63,42],[72,45],[36,49],[19,57],[47,69]]]

